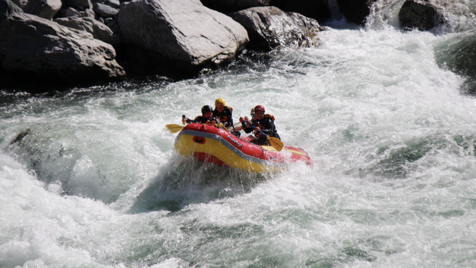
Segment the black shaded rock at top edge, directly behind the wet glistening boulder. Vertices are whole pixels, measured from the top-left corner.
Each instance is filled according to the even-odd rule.
[[[269,5],[286,12],[296,12],[317,21],[326,21],[331,16],[327,0],[271,0]]]

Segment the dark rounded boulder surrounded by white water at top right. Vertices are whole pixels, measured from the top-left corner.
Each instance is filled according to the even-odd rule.
[[[427,0],[407,0],[398,12],[400,27],[404,29],[429,30],[445,23],[434,5]]]

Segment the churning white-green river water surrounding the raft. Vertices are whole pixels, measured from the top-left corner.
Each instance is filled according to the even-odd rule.
[[[0,267],[476,267],[476,100],[447,54],[474,18],[402,32],[391,8],[196,79],[3,92]],[[218,97],[315,167],[178,156],[165,124]]]

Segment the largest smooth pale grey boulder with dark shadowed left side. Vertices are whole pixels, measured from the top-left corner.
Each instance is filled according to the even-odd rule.
[[[233,60],[248,34],[230,17],[199,0],[133,0],[118,23],[128,63],[140,72],[196,72]]]

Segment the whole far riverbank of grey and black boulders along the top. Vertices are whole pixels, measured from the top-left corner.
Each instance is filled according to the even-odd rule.
[[[337,0],[363,25],[376,0]],[[0,87],[74,85],[127,76],[189,77],[257,51],[315,47],[327,0],[0,0]],[[402,29],[446,23],[442,9],[407,0]]]

